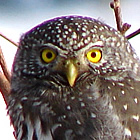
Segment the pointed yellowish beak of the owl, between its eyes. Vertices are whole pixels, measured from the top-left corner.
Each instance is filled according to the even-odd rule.
[[[73,87],[78,76],[78,70],[73,60],[66,61],[66,76],[70,86]]]

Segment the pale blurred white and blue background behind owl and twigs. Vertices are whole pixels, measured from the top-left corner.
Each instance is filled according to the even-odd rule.
[[[64,15],[90,16],[116,28],[111,0],[0,0],[0,32],[14,42],[37,24]],[[140,1],[121,0],[123,22],[131,24],[130,34],[140,28]],[[140,56],[140,35],[129,40]],[[9,70],[16,47],[0,37]],[[14,140],[6,106],[0,96],[0,139]]]

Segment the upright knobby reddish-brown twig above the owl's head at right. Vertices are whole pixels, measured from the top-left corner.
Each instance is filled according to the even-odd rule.
[[[114,0],[110,3],[110,7],[114,9],[115,18],[116,18],[116,24],[117,29],[122,33],[125,34],[126,31],[131,27],[130,24],[122,22],[122,15],[121,15],[121,7],[120,7],[120,0]]]

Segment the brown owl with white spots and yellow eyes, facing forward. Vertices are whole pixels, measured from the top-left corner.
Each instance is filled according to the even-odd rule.
[[[17,140],[140,140],[140,61],[96,19],[45,21],[21,36],[8,114]]]

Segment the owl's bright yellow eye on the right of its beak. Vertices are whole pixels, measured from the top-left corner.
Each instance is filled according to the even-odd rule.
[[[87,58],[88,58],[89,61],[91,61],[93,63],[97,63],[102,58],[102,52],[101,52],[101,50],[98,50],[98,49],[90,50],[87,53]]]

